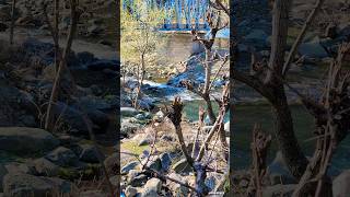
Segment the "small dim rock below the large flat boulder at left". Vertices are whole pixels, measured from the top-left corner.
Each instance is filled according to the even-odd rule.
[[[34,160],[34,166],[36,172],[43,176],[56,176],[59,172],[59,166],[45,158]]]

